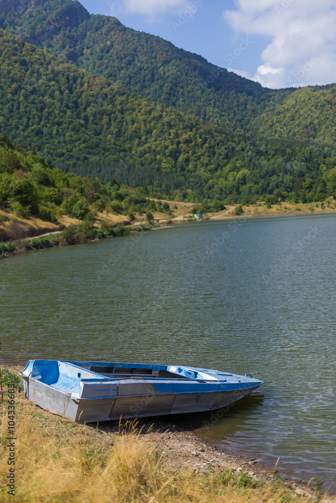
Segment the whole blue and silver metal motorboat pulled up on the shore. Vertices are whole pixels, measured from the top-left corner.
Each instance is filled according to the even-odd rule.
[[[76,423],[214,410],[262,384],[183,365],[64,360],[30,360],[22,378],[26,398]]]

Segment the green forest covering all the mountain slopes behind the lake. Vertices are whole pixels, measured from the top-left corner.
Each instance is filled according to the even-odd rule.
[[[3,5],[0,133],[48,169],[185,202],[336,197],[332,85],[263,89],[77,1]]]

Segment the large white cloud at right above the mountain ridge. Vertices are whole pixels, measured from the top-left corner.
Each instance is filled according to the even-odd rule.
[[[336,81],[335,0],[237,0],[224,18],[237,34],[272,37],[254,80],[298,87]]]

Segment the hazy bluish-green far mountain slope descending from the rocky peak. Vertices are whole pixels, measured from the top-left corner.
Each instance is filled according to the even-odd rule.
[[[268,103],[292,92],[263,89],[113,17],[90,16],[77,1],[23,2],[0,0],[4,29],[150,101],[212,124],[250,131]]]

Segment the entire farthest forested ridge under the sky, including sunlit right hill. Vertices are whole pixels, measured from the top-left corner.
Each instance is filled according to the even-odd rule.
[[[77,0],[0,0],[0,26],[148,101],[213,125],[266,138],[336,141],[332,86],[264,89],[113,17],[89,15]]]

